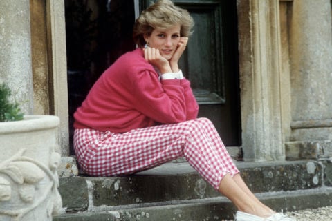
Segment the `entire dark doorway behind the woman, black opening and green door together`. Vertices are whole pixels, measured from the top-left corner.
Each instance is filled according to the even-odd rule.
[[[73,113],[102,72],[124,52],[136,48],[132,40],[135,7],[143,10],[149,2],[65,1],[71,154]],[[181,69],[192,81],[199,117],[212,119],[226,146],[240,146],[236,1],[174,3],[187,8],[196,23]]]

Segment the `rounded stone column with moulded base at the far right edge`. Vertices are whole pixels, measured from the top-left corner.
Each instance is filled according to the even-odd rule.
[[[328,157],[332,150],[330,0],[294,0],[290,26],[291,142],[288,158]]]

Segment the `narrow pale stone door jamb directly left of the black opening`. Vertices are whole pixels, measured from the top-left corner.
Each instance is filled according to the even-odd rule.
[[[50,92],[51,115],[60,118],[59,144],[62,156],[69,155],[68,132],[68,90],[67,90],[67,61],[66,61],[66,28],[64,17],[64,0],[46,1],[48,15],[48,55],[51,61],[49,69],[52,81]]]

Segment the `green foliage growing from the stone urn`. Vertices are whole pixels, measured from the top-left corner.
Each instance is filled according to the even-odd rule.
[[[6,84],[0,84],[0,122],[12,122],[23,119],[23,113],[17,102],[10,102],[10,88]]]

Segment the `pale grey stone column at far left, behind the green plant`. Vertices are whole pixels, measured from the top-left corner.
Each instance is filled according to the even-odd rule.
[[[26,114],[33,113],[30,1],[0,1],[0,83],[6,82]]]

